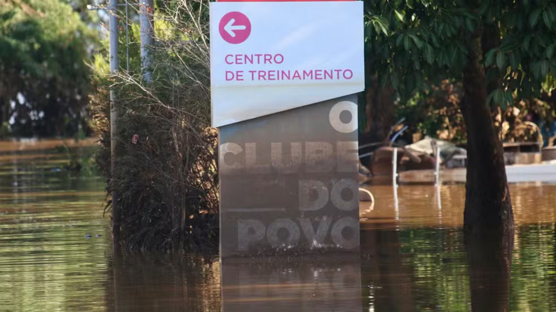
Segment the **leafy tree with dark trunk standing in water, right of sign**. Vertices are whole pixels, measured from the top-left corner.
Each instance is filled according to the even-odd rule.
[[[556,74],[555,31],[556,5],[548,0],[365,2],[368,66],[402,101],[442,79],[463,83],[466,229],[513,228],[489,105],[504,110],[514,98],[540,96]]]

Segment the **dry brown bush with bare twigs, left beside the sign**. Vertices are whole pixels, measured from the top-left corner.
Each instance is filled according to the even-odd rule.
[[[144,80],[145,72],[122,71],[109,81],[99,79],[99,92],[91,98],[92,124],[102,143],[97,162],[109,178],[109,196],[117,194],[120,242],[126,249],[216,248],[208,2],[158,4],[148,68],[152,82]],[[136,26],[132,31],[138,37]],[[112,179],[108,84],[118,99]]]

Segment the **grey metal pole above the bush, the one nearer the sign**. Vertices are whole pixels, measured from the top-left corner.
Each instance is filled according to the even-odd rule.
[[[153,0],[139,1],[139,29],[141,33],[141,62],[143,67],[143,77],[146,82],[152,81],[150,71],[151,59],[150,47],[152,47],[153,37],[155,36],[152,15],[154,10]]]

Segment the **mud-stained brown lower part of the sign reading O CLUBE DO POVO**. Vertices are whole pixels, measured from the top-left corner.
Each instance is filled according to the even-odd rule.
[[[359,251],[355,94],[220,128],[220,254]]]

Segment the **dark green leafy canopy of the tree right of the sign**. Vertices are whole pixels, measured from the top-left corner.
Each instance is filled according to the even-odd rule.
[[[487,81],[501,81],[489,103],[505,109],[514,98],[539,97],[555,87],[543,88],[556,75],[552,1],[365,1],[368,66],[402,101],[440,80],[461,81],[474,32],[482,34]]]

